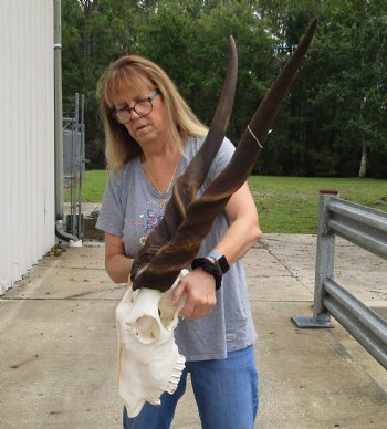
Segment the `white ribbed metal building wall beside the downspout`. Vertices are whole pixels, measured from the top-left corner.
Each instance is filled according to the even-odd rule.
[[[53,1],[0,0],[0,295],[52,248]]]

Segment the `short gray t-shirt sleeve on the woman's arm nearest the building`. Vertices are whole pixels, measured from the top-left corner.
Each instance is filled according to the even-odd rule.
[[[95,226],[102,231],[118,237],[123,237],[125,219],[122,180],[122,175],[119,177],[109,176]]]

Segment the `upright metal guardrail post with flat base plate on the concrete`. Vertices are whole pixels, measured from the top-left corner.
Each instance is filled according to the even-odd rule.
[[[335,261],[335,234],[328,230],[328,203],[337,198],[334,189],[322,189],[320,191],[318,211],[318,236],[316,253],[316,271],[314,282],[313,317],[292,316],[292,321],[299,327],[334,327],[331,315],[324,307],[324,281],[333,279]]]

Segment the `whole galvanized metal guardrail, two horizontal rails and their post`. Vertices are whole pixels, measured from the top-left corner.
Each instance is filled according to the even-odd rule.
[[[335,236],[387,259],[387,213],[322,190],[313,316],[292,320],[301,328],[328,328],[334,316],[387,369],[387,322],[333,280]]]

